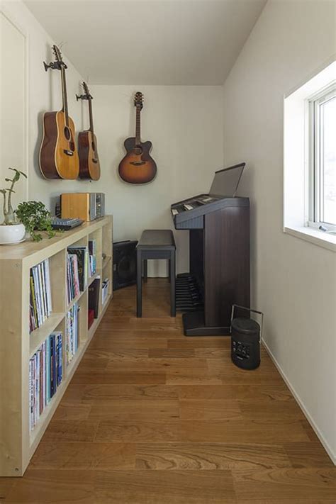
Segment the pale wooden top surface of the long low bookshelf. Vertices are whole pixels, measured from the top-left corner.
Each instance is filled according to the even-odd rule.
[[[69,245],[77,240],[81,240],[82,237],[85,237],[89,233],[94,233],[95,230],[101,228],[103,225],[111,223],[112,215],[105,215],[105,217],[83,223],[72,230],[57,233],[53,238],[49,239],[45,237],[40,242],[26,240],[25,242],[13,245],[0,245],[0,261],[9,259],[23,260],[27,257],[40,256],[41,254],[49,257],[63,248],[69,247]]]

